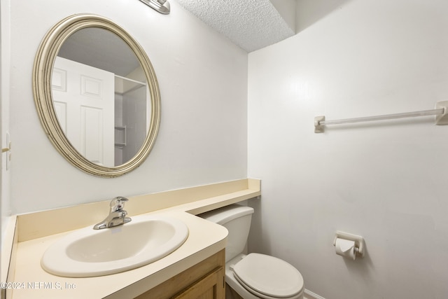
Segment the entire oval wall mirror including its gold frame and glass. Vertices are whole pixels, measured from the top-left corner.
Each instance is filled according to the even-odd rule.
[[[132,36],[98,15],[72,15],[44,36],[33,69],[45,133],[79,169],[115,177],[141,165],[160,124],[154,69]]]

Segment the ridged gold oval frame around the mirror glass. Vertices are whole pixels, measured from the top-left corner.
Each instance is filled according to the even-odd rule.
[[[59,126],[52,101],[52,68],[55,64],[57,53],[59,53],[62,43],[64,43],[71,34],[88,27],[107,29],[120,36],[120,38],[130,46],[131,50],[137,56],[141,67],[144,69],[146,81],[148,81],[149,92],[151,93],[151,123],[149,124],[149,130],[148,134],[146,134],[144,144],[137,154],[134,155],[134,158],[125,162],[123,165],[115,167],[104,167],[102,165],[94,164],[76,151]],[[36,104],[43,130],[45,130],[45,133],[53,146],[55,146],[57,151],[59,151],[66,160],[83,172],[87,172],[94,176],[109,178],[126,174],[139,167],[141,163],[144,162],[155,143],[155,137],[157,137],[160,125],[160,91],[155,71],[148,56],[139,43],[137,43],[130,34],[127,34],[125,29],[116,25],[109,19],[99,15],[78,14],[71,15],[53,26],[44,36],[36,53],[33,67],[33,94],[34,103]]]

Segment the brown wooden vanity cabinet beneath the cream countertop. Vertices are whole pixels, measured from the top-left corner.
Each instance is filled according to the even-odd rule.
[[[137,297],[154,298],[224,299],[225,251],[219,251]]]

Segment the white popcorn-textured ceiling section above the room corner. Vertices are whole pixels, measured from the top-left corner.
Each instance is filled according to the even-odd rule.
[[[295,34],[269,0],[176,0],[247,52]]]

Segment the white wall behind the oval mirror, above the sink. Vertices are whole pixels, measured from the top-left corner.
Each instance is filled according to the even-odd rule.
[[[247,53],[171,1],[12,1],[10,131],[14,213],[246,177]],[[80,172],[53,148],[34,106],[31,71],[45,32],[74,13],[114,20],[146,50],[162,97],[160,132],[141,167],[116,179]]]

